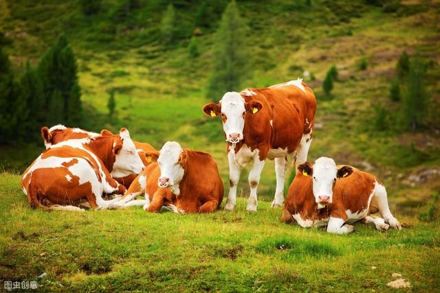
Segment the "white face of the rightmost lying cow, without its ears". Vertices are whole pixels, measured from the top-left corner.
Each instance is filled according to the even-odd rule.
[[[329,196],[329,203],[333,199],[333,183],[336,180],[336,163],[333,159],[325,156],[315,161],[313,169],[313,189],[316,203],[319,203],[320,196]]]

